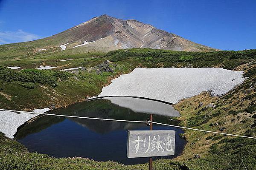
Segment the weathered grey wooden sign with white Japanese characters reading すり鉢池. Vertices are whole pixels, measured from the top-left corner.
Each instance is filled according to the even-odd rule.
[[[175,130],[129,130],[127,157],[169,156],[175,152]]]

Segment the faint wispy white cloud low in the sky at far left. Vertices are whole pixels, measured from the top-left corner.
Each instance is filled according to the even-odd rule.
[[[15,42],[32,41],[41,38],[36,34],[22,31],[0,31],[0,44],[9,44]]]

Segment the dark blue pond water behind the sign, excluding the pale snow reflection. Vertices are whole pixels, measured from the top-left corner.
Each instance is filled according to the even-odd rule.
[[[82,102],[52,111],[53,114],[126,119],[145,121],[149,114],[137,113],[112,104],[109,100]],[[170,117],[154,115],[155,122],[177,125]],[[96,161],[117,161],[123,164],[148,162],[148,158],[126,157],[128,130],[149,130],[144,123],[112,122],[57,116],[42,116],[19,130],[15,139],[30,152],[45,153],[54,157],[80,156]],[[175,156],[154,157],[171,159],[183,150],[186,143],[179,137],[183,130],[175,127],[154,125],[153,130],[175,130]]]

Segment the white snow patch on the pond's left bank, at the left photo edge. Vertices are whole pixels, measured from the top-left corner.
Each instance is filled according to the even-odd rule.
[[[13,139],[18,127],[23,125],[29,119],[49,110],[49,108],[35,109],[33,111],[34,113],[0,111],[0,131],[4,133],[6,137]]]

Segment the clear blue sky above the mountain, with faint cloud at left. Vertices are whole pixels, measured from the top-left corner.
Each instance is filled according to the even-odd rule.
[[[101,14],[213,48],[256,49],[256,0],[0,0],[0,44],[48,37]]]

